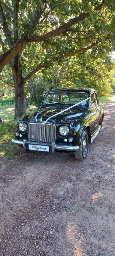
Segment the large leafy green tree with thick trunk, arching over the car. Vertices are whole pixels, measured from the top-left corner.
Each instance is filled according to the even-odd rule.
[[[24,87],[36,72],[93,47],[97,52],[113,50],[114,14],[113,0],[0,1],[0,72],[9,63],[15,89],[14,118],[25,112]]]

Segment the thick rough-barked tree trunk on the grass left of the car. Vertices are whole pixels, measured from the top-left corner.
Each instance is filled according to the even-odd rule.
[[[24,115],[26,111],[25,106],[25,92],[24,92],[24,83],[22,77],[22,71],[14,68],[13,72],[13,82],[15,88],[15,114],[14,119]]]

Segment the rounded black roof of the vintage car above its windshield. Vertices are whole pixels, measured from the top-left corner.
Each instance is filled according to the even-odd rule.
[[[89,95],[90,93],[92,93],[94,91],[96,91],[96,90],[91,89],[91,88],[59,88],[59,89],[49,90],[48,92],[49,93],[52,93],[52,92],[85,92]]]

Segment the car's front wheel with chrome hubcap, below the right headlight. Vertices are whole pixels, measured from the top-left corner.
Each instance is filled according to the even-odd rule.
[[[82,134],[80,148],[74,152],[75,158],[77,160],[84,160],[87,156],[87,152],[88,152],[88,135],[84,131]]]

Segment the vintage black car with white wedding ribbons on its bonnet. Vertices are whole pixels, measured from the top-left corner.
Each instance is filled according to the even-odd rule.
[[[84,160],[88,143],[102,129],[104,111],[94,89],[55,89],[45,93],[40,109],[17,122],[15,139],[21,152],[74,152]]]

